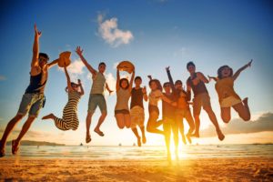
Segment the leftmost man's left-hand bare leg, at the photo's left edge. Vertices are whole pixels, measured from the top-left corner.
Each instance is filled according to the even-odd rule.
[[[3,156],[5,155],[5,143],[6,143],[6,139],[9,136],[9,134],[12,132],[12,130],[14,129],[15,125],[23,118],[23,115],[16,115],[14,118],[12,118],[8,124],[5,127],[5,132],[2,136],[1,142],[0,142],[0,153],[3,152]],[[1,154],[0,154],[0,157]]]

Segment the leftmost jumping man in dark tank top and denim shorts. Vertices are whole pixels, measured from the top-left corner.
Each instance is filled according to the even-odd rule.
[[[37,30],[35,25],[35,40],[33,45],[33,57],[31,61],[30,70],[30,84],[25,90],[25,94],[22,97],[21,104],[16,116],[10,120],[5,127],[5,132],[0,140],[0,157],[5,156],[5,143],[9,134],[14,129],[15,125],[28,113],[28,117],[23,125],[19,136],[15,140],[12,140],[12,153],[15,155],[19,149],[20,141],[25,136],[35,118],[38,116],[40,109],[45,104],[45,85],[47,81],[48,69],[55,66],[58,59],[47,63],[49,57],[45,53],[39,52],[39,38],[42,35]]]

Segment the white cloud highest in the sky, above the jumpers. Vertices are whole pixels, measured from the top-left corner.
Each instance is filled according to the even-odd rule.
[[[118,29],[117,18],[104,20],[104,15],[97,15],[98,33],[101,37],[114,47],[129,44],[134,36],[129,30]]]

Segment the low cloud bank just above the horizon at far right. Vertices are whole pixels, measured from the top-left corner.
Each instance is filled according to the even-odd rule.
[[[258,133],[263,131],[273,131],[273,113],[263,113],[257,119],[248,122],[240,118],[232,119],[226,127],[222,128],[225,135],[229,134],[248,134]],[[201,136],[215,136],[214,126],[209,126],[207,129],[200,131]]]

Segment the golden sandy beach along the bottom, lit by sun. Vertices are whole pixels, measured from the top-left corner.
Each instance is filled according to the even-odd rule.
[[[1,158],[1,181],[272,181],[272,158],[88,160]]]

